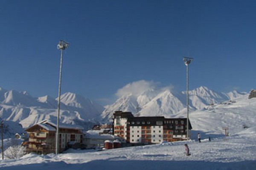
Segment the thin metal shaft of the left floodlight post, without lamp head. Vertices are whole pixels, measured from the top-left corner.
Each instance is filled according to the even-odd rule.
[[[59,89],[58,89],[58,117],[57,117],[57,127],[56,127],[56,148],[55,148],[56,155],[58,154],[58,147],[59,147],[59,116],[60,116],[60,103],[61,103],[62,54],[63,54],[63,49],[61,49],[61,66],[60,66]]]

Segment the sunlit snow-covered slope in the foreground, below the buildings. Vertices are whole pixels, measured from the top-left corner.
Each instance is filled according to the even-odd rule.
[[[1,160],[1,170],[255,170],[256,127],[227,138],[113,150],[67,150],[46,156],[27,154],[20,159]],[[187,143],[192,156],[185,155]]]

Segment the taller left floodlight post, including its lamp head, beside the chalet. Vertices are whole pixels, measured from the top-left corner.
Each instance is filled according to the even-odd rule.
[[[63,54],[63,50],[65,50],[66,48],[68,48],[69,43],[60,40],[57,48],[59,50],[61,50],[61,66],[60,66],[60,77],[59,77],[59,88],[58,88],[58,117],[57,117],[57,127],[56,127],[56,150],[55,150],[55,154],[58,154],[58,147],[59,147],[59,116],[60,116],[60,103],[61,103],[61,70],[62,70],[62,54]]]

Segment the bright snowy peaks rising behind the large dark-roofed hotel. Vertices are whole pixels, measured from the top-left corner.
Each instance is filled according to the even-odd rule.
[[[201,86],[189,91],[190,110],[201,110],[208,105],[232,100],[246,93],[232,91],[218,93]],[[170,89],[145,91],[142,94],[127,94],[121,96],[113,105],[105,107],[102,113],[103,120],[111,120],[114,111],[131,111],[135,116],[165,116],[175,117],[186,110],[186,91],[176,92]]]

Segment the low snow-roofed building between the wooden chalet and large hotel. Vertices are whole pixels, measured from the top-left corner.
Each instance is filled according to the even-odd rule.
[[[105,141],[114,141],[119,140],[120,138],[118,136],[109,135],[109,134],[99,134],[99,130],[88,130],[87,132],[84,132],[83,137],[83,144],[86,145],[87,149],[90,148],[102,148],[104,147]]]

